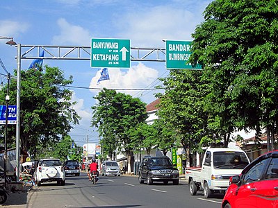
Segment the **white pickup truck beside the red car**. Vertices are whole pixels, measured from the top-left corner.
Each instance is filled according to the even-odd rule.
[[[200,168],[186,168],[189,191],[195,195],[204,191],[204,197],[224,193],[229,187],[229,178],[239,175],[250,164],[246,153],[240,149],[208,148]]]

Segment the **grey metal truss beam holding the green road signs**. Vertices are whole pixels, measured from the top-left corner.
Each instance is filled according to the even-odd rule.
[[[90,60],[89,46],[33,46],[22,45],[21,59]],[[40,51],[44,50],[44,57]],[[131,61],[165,62],[165,49],[131,47]]]

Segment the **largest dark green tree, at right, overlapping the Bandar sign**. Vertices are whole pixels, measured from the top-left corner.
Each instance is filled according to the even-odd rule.
[[[265,128],[268,141],[278,119],[277,6],[275,0],[213,1],[193,33],[191,55],[204,67],[215,104],[229,110],[227,122],[257,135]]]

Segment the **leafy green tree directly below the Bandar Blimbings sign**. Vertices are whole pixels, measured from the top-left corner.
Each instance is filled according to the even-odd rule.
[[[171,70],[169,76],[161,79],[165,93],[157,94],[161,98],[159,122],[172,132],[172,143],[180,142],[184,149],[199,150],[213,137],[208,137],[208,113],[204,110],[204,96],[209,88],[201,77],[202,71]]]

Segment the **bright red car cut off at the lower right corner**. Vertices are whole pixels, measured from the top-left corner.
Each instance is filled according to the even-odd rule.
[[[278,150],[265,153],[230,178],[222,208],[278,208]]]

